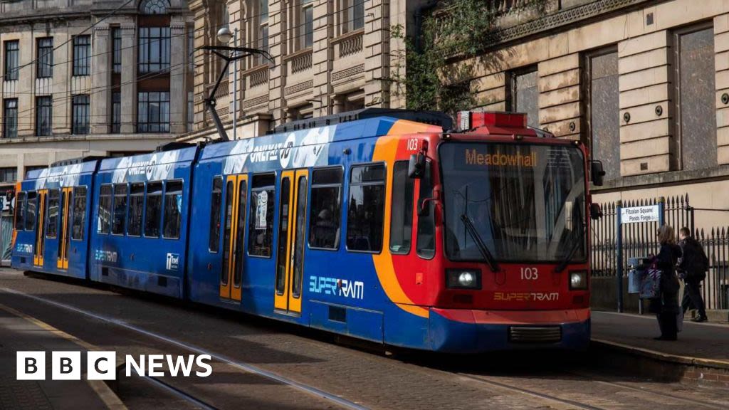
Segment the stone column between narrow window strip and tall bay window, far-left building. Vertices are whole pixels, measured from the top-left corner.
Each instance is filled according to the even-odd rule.
[[[136,132],[136,28],[122,26],[122,134]]]

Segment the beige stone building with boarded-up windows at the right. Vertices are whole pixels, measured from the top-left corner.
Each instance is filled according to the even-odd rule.
[[[729,209],[729,2],[496,0],[500,43],[469,60],[477,109],[526,112],[582,139],[607,171],[598,202],[682,196]],[[695,213],[697,227],[729,212]]]

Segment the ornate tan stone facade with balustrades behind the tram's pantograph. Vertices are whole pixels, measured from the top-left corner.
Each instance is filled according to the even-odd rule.
[[[195,47],[217,45],[222,26],[238,46],[268,50],[274,62],[239,62],[238,138],[265,134],[290,120],[364,107],[404,107],[387,78],[397,64],[390,38],[394,25],[413,26],[427,1],[192,0]],[[233,41],[231,44],[233,45]],[[222,70],[214,55],[196,55],[195,132],[180,141],[217,138],[204,98]],[[217,92],[217,112],[232,134],[235,67]],[[402,71],[404,74],[404,69]]]

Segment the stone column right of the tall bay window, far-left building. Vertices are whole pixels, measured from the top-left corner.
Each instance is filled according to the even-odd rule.
[[[187,119],[187,87],[185,86],[185,62],[187,61],[184,43],[184,17],[172,16],[170,25],[170,132],[183,134]]]

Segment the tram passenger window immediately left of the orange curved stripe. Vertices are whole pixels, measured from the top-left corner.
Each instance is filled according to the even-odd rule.
[[[347,208],[347,250],[382,250],[385,174],[383,164],[352,167]]]

